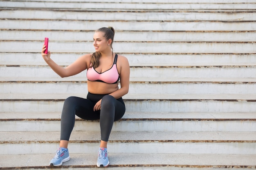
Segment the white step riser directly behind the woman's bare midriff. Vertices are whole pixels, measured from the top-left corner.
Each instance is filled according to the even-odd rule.
[[[120,88],[120,85],[119,85]],[[157,89],[157,90],[156,90]],[[211,83],[174,83],[144,84],[130,83],[132,94],[252,94],[256,83],[245,84],[211,84]],[[87,93],[87,83],[1,83],[0,93]]]

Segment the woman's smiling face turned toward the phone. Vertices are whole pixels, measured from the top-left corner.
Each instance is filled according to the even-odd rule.
[[[95,32],[93,36],[93,46],[95,48],[95,52],[101,52],[109,48],[109,41],[103,37],[103,32]]]

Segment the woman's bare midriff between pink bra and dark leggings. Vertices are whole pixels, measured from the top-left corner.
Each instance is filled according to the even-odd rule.
[[[87,81],[88,92],[92,94],[105,95],[118,90],[118,83],[108,84],[103,82]]]

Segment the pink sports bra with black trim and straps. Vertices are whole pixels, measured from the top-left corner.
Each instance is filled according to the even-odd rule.
[[[117,54],[115,55],[114,63],[110,69],[102,73],[98,73],[93,67],[91,67],[88,68],[86,76],[89,81],[116,84],[119,81],[119,74],[117,71]]]

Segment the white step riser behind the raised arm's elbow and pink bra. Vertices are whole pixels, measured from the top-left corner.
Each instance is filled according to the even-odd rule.
[[[21,67],[5,67],[0,66],[0,77],[52,77],[59,78],[59,76],[52,71],[48,66],[21,66]],[[86,71],[83,71],[72,77],[82,77],[84,81],[86,78]],[[150,77],[150,78],[164,78],[166,81],[172,78],[256,78],[256,66],[251,67],[171,67],[171,68],[157,68],[157,67],[143,67],[130,68],[130,77]],[[25,79],[24,79],[25,80]],[[65,79],[62,79],[65,80]]]

